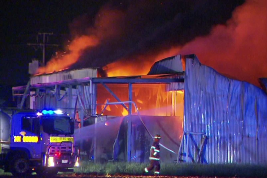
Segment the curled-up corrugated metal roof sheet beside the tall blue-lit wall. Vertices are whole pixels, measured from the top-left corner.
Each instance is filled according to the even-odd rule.
[[[147,75],[183,72],[181,55],[172,56],[155,62]]]

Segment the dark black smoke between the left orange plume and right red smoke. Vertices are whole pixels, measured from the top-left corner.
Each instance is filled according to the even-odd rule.
[[[208,35],[214,25],[225,24],[243,3],[244,0],[109,2],[94,17],[93,25],[83,23],[89,18],[86,16],[71,25],[75,37],[87,35],[99,40],[98,45],[83,50],[71,68],[103,67],[117,60],[154,61],[153,56]]]

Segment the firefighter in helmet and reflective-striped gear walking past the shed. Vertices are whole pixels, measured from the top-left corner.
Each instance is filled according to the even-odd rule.
[[[150,165],[144,169],[143,173],[147,173],[155,167],[154,175],[158,176],[160,174],[160,138],[160,134],[154,137],[154,142],[150,148]]]

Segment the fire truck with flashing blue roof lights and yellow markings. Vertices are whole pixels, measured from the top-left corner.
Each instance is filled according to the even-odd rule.
[[[7,132],[1,114],[1,134]],[[7,124],[7,123],[6,123]],[[55,175],[79,166],[74,146],[74,119],[61,110],[23,111],[11,116],[8,147],[1,135],[0,163],[14,176]],[[7,135],[7,134],[6,134]],[[5,149],[7,148],[7,149]]]

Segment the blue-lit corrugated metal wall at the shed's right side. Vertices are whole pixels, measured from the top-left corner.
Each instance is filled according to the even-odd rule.
[[[187,56],[184,132],[206,133],[203,163],[267,163],[267,96],[247,82],[224,77]],[[182,155],[186,154],[183,137]],[[203,135],[188,136],[189,162]],[[184,157],[182,158],[185,159]]]

